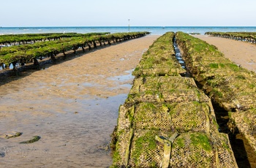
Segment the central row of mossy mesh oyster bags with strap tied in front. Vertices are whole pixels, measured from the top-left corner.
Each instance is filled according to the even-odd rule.
[[[113,132],[112,167],[237,167],[211,99],[176,60],[167,32],[143,54]]]

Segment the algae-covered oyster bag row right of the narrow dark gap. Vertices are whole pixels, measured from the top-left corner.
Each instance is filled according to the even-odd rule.
[[[239,33],[241,34],[241,33]],[[246,33],[244,36],[247,36]],[[176,33],[184,60],[193,77],[214,104],[228,112],[233,133],[244,134],[256,156],[256,74],[225,58],[213,45]],[[237,127],[237,129],[236,129]]]

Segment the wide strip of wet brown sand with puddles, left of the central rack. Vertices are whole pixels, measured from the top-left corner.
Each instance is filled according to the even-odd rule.
[[[0,82],[1,167],[108,167],[110,134],[148,35]],[[5,134],[20,131],[20,137]],[[38,135],[32,144],[19,144]]]

